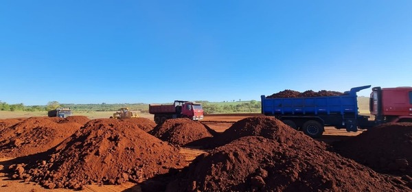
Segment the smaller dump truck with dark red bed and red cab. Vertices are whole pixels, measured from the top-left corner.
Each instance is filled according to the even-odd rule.
[[[174,101],[173,104],[150,104],[149,113],[155,115],[155,123],[161,124],[166,119],[189,118],[194,121],[203,119],[201,104],[192,101]]]

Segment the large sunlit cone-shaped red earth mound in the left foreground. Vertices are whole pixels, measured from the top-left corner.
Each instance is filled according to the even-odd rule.
[[[48,189],[82,189],[91,182],[141,182],[185,165],[179,149],[135,123],[95,119],[55,147],[47,158],[10,169],[13,178],[32,180]]]

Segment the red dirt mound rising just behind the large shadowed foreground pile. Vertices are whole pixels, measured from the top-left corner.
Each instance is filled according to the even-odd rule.
[[[263,136],[268,139],[278,140],[282,143],[297,142],[301,137],[305,137],[306,139],[310,138],[304,135],[303,132],[298,132],[290,128],[275,117],[248,117],[233,123],[230,128],[217,136],[214,142],[215,146],[212,147],[225,145],[242,136]],[[319,144],[319,147],[322,149],[326,149],[324,143],[317,144]]]

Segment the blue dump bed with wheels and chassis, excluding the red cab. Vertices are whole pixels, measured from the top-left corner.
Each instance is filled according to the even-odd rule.
[[[296,130],[311,137],[320,137],[324,126],[333,126],[348,132],[375,125],[369,116],[358,114],[358,91],[369,86],[351,88],[343,95],[324,97],[266,98],[262,99],[262,114],[276,117]]]

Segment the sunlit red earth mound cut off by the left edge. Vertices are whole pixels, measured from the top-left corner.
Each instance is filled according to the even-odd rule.
[[[20,157],[46,152],[82,127],[80,123],[55,123],[48,117],[30,117],[0,131],[0,157]]]

